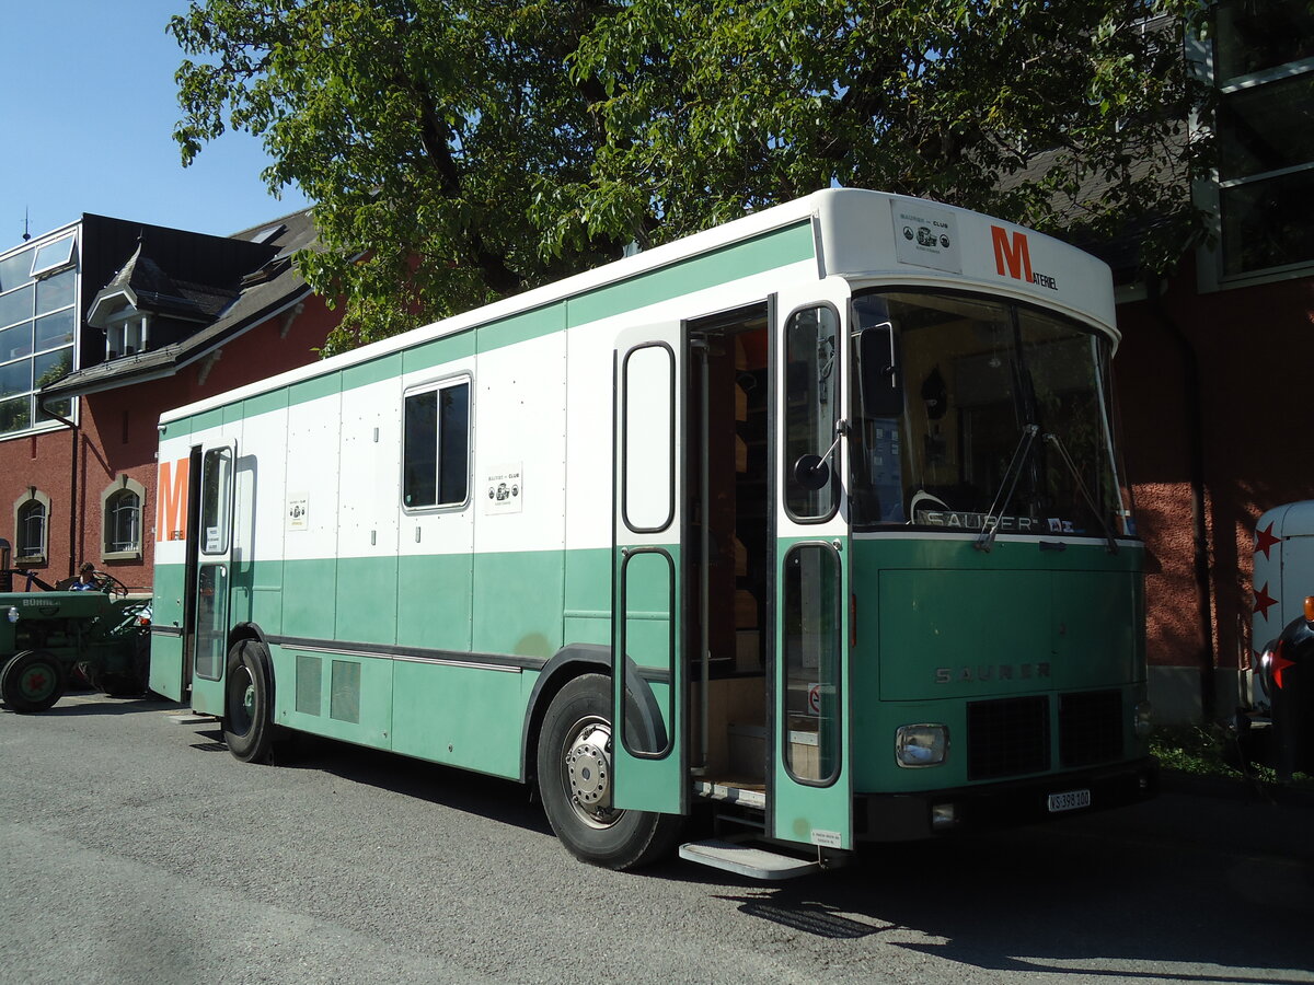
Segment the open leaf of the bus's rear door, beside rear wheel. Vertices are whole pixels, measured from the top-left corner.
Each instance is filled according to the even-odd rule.
[[[229,596],[233,587],[233,487],[235,441],[201,447],[201,474],[193,507],[194,592],[185,636],[192,653],[192,708],[223,716]]]

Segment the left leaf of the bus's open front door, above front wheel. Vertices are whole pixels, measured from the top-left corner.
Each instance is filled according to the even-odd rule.
[[[612,802],[627,810],[687,813],[682,326],[623,332],[615,374]]]

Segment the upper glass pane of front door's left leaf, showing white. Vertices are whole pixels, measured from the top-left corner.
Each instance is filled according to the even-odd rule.
[[[625,356],[623,515],[632,531],[656,533],[673,519],[675,357],[665,345]]]

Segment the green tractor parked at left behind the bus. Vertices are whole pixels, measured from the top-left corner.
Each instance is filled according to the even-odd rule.
[[[104,571],[87,590],[71,591],[76,582],[49,584],[9,567],[9,541],[0,538],[0,700],[16,712],[46,711],[79,675],[108,695],[146,691],[151,600],[129,598]]]

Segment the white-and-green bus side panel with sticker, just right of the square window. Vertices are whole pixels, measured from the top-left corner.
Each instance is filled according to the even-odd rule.
[[[491,351],[481,335],[476,381],[473,649],[547,659],[562,645],[565,331]]]

